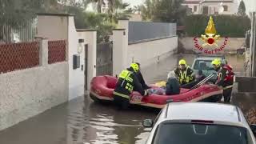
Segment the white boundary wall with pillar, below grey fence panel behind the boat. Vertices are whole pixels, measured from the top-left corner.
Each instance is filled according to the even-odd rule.
[[[113,30],[113,75],[118,75],[131,62],[141,63],[142,68],[166,58],[178,48],[178,37],[147,39],[128,44],[129,20],[119,20]]]

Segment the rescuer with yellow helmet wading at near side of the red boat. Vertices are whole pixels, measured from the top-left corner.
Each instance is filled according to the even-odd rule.
[[[118,82],[115,86],[113,97],[115,104],[121,109],[127,109],[130,105],[130,94],[133,90],[147,96],[147,90],[143,90],[141,83],[137,78],[139,66],[132,63],[130,68],[122,70],[118,76]]]

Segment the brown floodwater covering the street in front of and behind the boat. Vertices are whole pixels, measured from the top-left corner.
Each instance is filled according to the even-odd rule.
[[[179,58],[192,64],[192,54],[172,55],[158,64],[142,70],[146,82],[166,80],[166,74],[177,66]],[[234,71],[243,71],[243,59],[228,56]],[[1,144],[134,144],[145,143],[150,129],[142,127],[142,120],[154,119],[158,110],[135,107],[116,110],[110,103],[94,103],[76,98],[30,118],[9,129],[0,131]]]

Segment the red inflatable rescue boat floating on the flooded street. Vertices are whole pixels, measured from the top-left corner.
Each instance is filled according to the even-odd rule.
[[[111,76],[94,77],[90,82],[90,98],[94,101],[113,101],[114,86],[117,78]],[[162,108],[166,102],[218,102],[222,90],[218,86],[212,84],[204,84],[194,90],[182,89],[181,94],[177,95],[158,95],[150,94],[143,97],[138,92],[130,94],[130,103],[149,106],[154,108]]]

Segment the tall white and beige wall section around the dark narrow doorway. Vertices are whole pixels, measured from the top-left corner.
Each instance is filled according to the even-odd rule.
[[[54,22],[54,23],[53,23]],[[49,25],[49,23],[53,23]],[[85,75],[87,90],[90,90],[90,80],[96,76],[96,30],[76,30],[72,14],[39,14],[38,36],[49,40],[66,39],[68,42],[69,62],[69,100],[85,94]],[[78,39],[83,39],[82,52],[78,53]],[[85,45],[88,44],[87,74],[85,74]],[[80,56],[80,68],[73,69],[73,55]],[[82,69],[83,67],[83,69]]]

